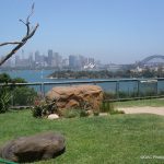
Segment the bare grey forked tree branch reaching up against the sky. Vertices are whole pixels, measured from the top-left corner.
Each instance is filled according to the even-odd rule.
[[[35,34],[37,27],[38,27],[38,23],[35,25],[35,27],[32,30],[32,27],[30,26],[30,17],[33,15],[34,13],[34,3],[32,5],[32,11],[28,14],[28,16],[26,17],[26,22],[24,22],[23,20],[20,20],[25,26],[26,26],[26,35],[21,39],[21,42],[10,42],[10,43],[2,43],[0,44],[0,46],[5,46],[5,45],[16,45],[9,54],[7,54],[4,56],[4,58],[2,58],[0,60],[0,66],[2,66],[9,58],[11,58],[22,46],[24,46],[26,44],[26,42],[33,37],[33,35]]]

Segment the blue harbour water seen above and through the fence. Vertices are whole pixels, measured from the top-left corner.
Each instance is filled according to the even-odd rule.
[[[47,77],[54,72],[54,70],[13,70],[13,71],[0,71],[0,73],[8,73],[11,78],[23,78],[27,82],[63,82],[63,81],[74,81],[73,79],[48,79]],[[77,80],[75,81],[90,81],[91,79],[86,80]],[[106,79],[107,80],[107,79]],[[97,83],[97,85],[102,86],[102,89],[106,92],[116,92],[116,82],[104,82]],[[46,92],[49,91],[55,85],[46,85]],[[159,91],[164,91],[164,81],[160,81],[157,83]],[[36,89],[36,87],[35,87]],[[37,86],[37,91],[40,87]],[[122,92],[137,92],[138,91],[138,83],[136,81],[131,82],[119,82],[119,91]]]

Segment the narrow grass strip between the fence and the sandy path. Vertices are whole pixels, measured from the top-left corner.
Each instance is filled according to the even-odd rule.
[[[132,106],[164,106],[164,98],[139,99],[113,103],[115,107],[132,107]]]

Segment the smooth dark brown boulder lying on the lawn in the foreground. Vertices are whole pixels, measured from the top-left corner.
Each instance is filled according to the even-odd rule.
[[[25,163],[52,159],[63,152],[63,137],[58,133],[46,132],[8,142],[0,149],[0,156],[13,162]]]

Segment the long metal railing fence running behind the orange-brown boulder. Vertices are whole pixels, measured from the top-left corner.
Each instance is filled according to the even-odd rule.
[[[102,86],[105,93],[113,93],[114,97],[105,101],[125,101],[139,98],[155,98],[164,96],[164,78],[160,79],[114,79],[114,80],[83,80],[60,82],[33,83],[1,83],[0,87],[17,86],[33,87],[42,97],[54,86],[95,84]],[[12,101],[11,101],[12,102]],[[12,102],[14,105],[14,102]]]

